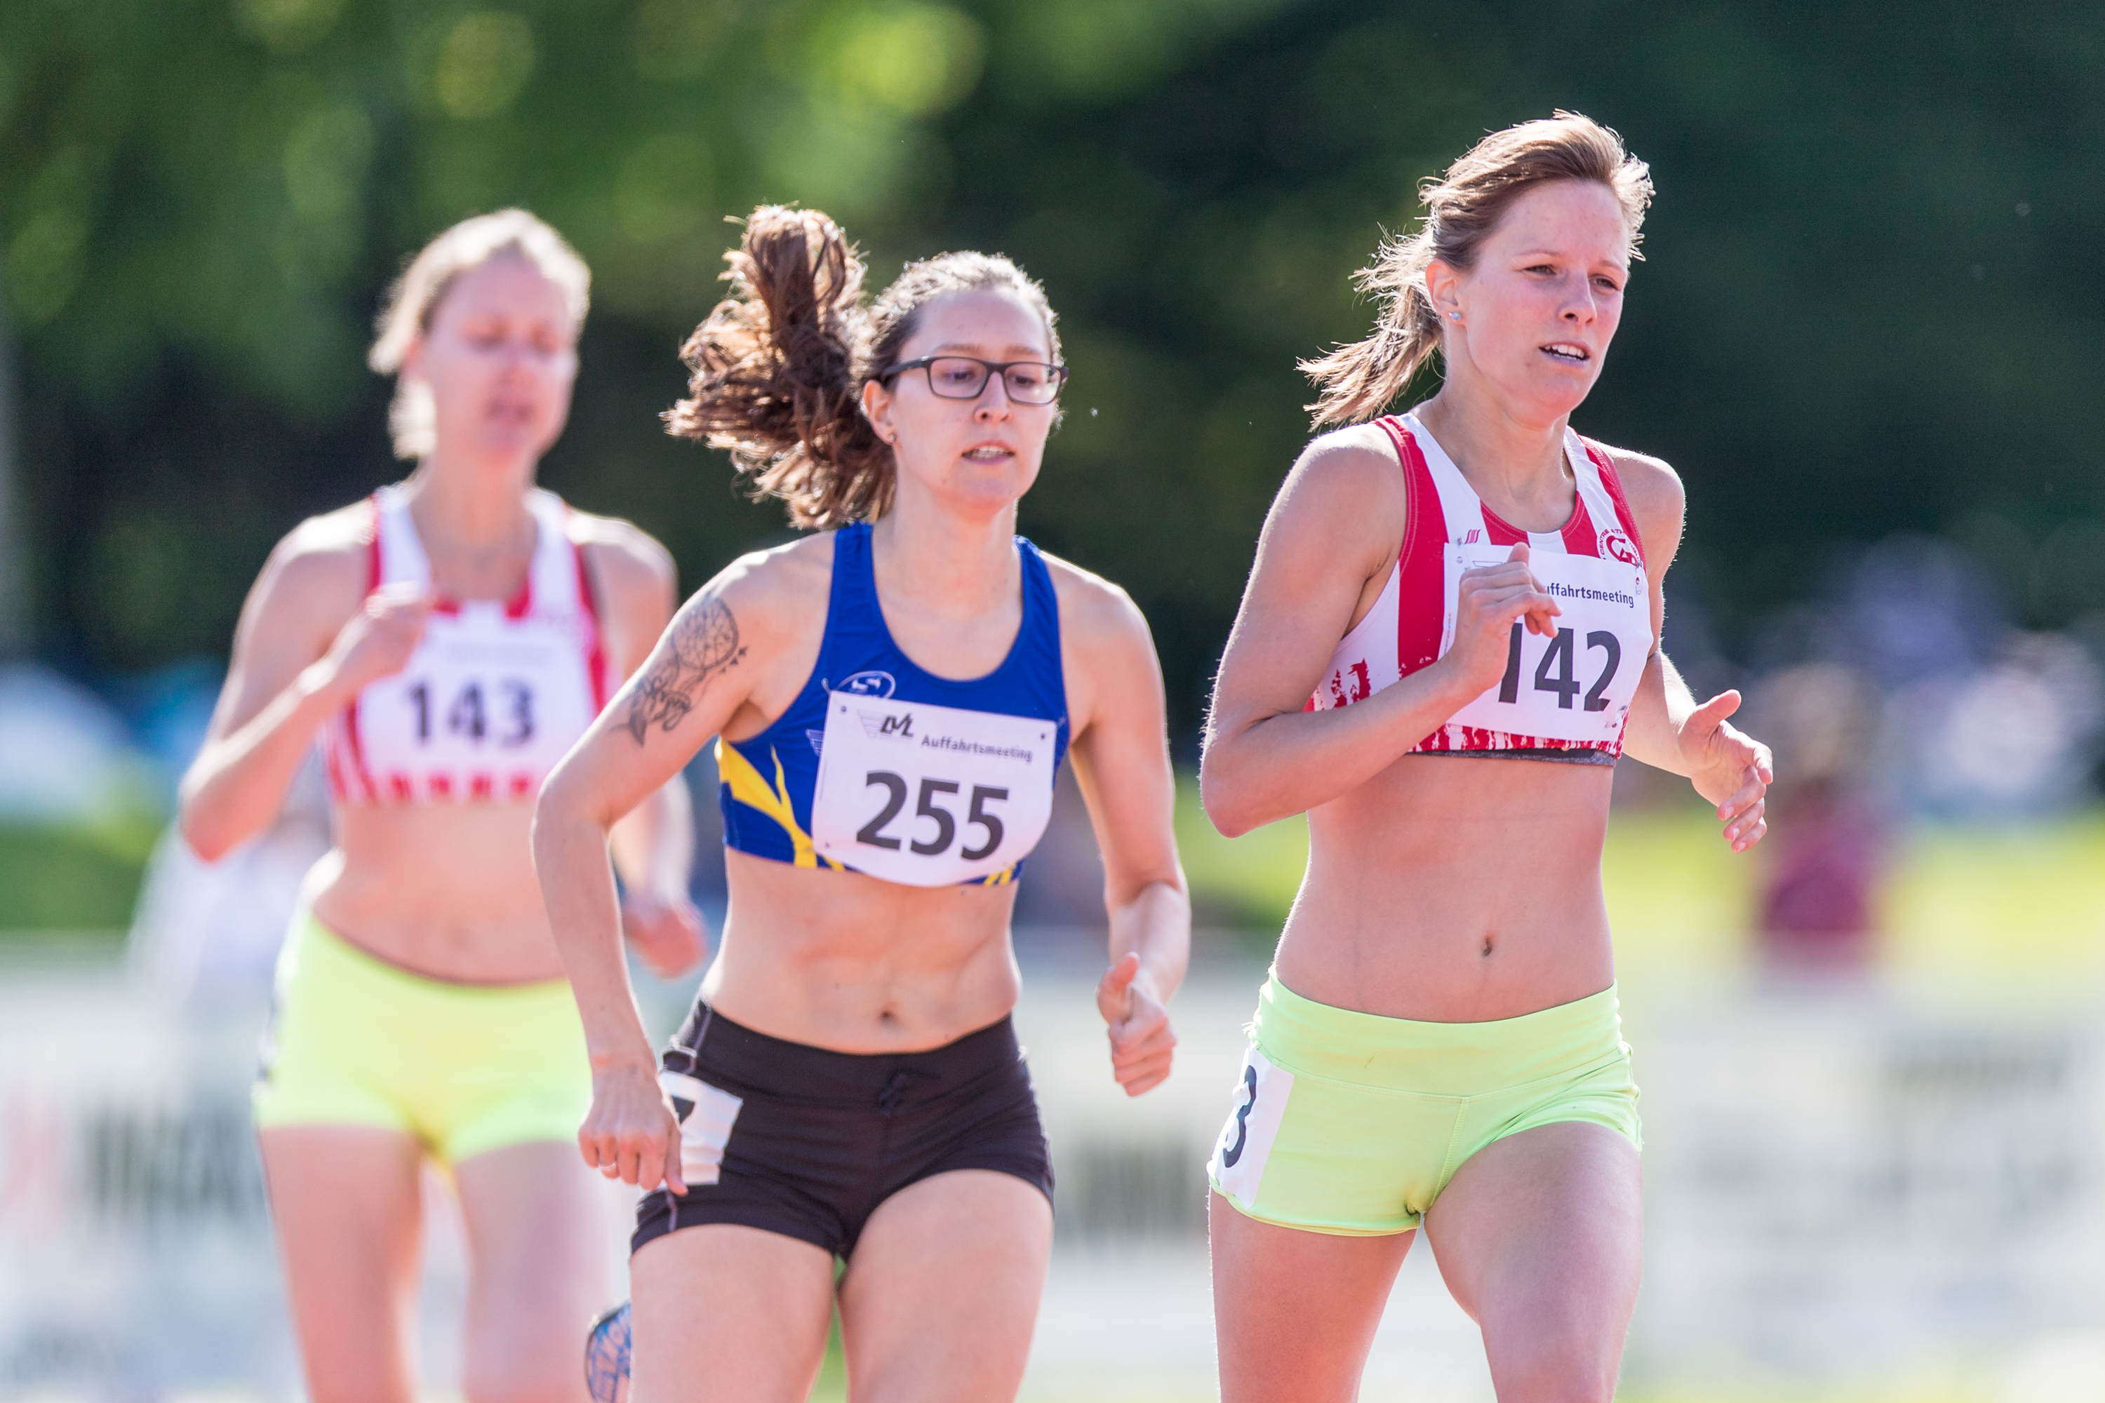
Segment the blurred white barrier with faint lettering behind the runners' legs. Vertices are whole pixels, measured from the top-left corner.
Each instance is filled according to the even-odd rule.
[[[1034,968],[1019,1010],[1059,1176],[1025,1397],[1206,1399],[1202,1161],[1261,970],[1202,968],[1179,1071],[1139,1100],[1109,1077],[1095,974]],[[2048,995],[1627,991],[1650,1214],[1629,1382],[2105,1397],[2105,1018]],[[109,968],[0,968],[0,1399],[297,1395],[246,1121],[261,1020]],[[421,1350],[448,1392],[461,1249],[432,1207]],[[1423,1243],[1366,1397],[1490,1399]]]

